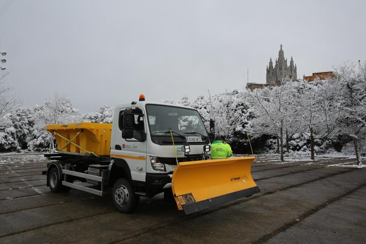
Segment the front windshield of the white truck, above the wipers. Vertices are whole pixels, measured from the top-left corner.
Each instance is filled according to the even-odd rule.
[[[146,105],[147,122],[151,135],[166,135],[169,128],[173,136],[208,136],[198,112],[193,109],[164,105]]]

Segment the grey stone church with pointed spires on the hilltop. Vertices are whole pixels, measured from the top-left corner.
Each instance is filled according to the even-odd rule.
[[[294,60],[291,56],[290,65],[287,66],[287,59],[284,57],[282,44],[278,52],[278,60],[276,59],[275,67],[273,68],[272,58],[269,60],[269,67],[266,70],[266,83],[273,83],[285,78],[297,79],[297,67],[294,65]]]

